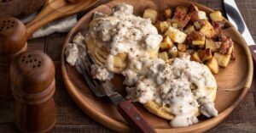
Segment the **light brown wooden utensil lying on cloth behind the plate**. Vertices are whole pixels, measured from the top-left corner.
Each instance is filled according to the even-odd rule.
[[[99,0],[47,0],[40,14],[26,25],[27,35],[31,36],[35,30],[67,15],[76,14],[97,3]]]

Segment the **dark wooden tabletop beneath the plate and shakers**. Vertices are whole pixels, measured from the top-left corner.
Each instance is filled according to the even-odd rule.
[[[210,8],[221,10],[221,0],[196,0],[196,2],[207,5]],[[256,41],[256,1],[236,0],[241,14],[247,22],[254,40]],[[55,105],[57,108],[57,124],[54,132],[61,133],[112,133],[106,127],[96,123],[73,102],[67,93],[61,78],[61,47],[66,34],[53,34],[28,42],[28,49],[42,50],[55,62],[56,69],[56,91]],[[230,114],[221,124],[207,131],[208,133],[248,133],[256,132],[256,79],[253,79],[251,90],[241,105]],[[15,112],[12,102],[0,101],[0,132],[18,132],[15,128]]]

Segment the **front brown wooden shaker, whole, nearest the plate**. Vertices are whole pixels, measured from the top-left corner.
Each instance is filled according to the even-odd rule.
[[[10,67],[15,120],[21,132],[51,132],[56,122],[55,66],[41,51],[15,57]]]

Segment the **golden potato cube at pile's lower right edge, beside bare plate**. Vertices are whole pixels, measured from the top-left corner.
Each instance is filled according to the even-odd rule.
[[[221,54],[221,53],[214,53],[214,57],[218,60],[218,65],[222,67],[227,67],[230,63],[230,54]]]

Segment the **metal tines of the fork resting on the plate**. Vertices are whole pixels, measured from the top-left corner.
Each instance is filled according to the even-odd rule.
[[[89,55],[87,55],[89,56]],[[86,57],[87,57],[86,56]],[[92,78],[90,74],[90,66],[93,63],[91,58],[78,58],[78,67],[81,70],[82,75],[84,76],[84,80],[86,81],[87,85],[89,86],[90,90],[96,95],[96,97],[104,97],[106,94],[102,91],[102,83],[99,80],[95,80]],[[86,62],[84,61],[86,60]]]

